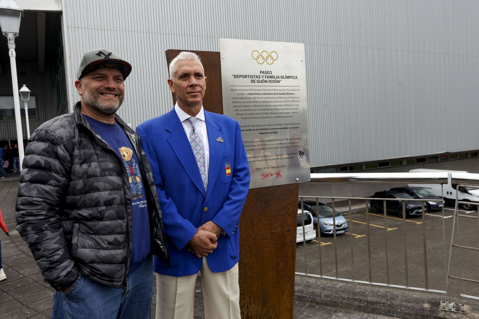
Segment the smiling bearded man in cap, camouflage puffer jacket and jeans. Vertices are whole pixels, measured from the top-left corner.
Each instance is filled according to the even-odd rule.
[[[81,101],[42,124],[25,150],[17,230],[57,290],[52,318],[149,318],[151,254],[169,263],[150,164],[139,136],[115,114],[130,71],[107,49],[86,52],[75,81]],[[120,151],[106,142],[109,132],[125,137]],[[141,198],[132,198],[122,148],[137,158]],[[141,224],[146,228],[135,231]],[[145,247],[147,257],[132,264],[132,248],[138,254]],[[135,277],[141,269],[145,275]],[[130,300],[140,294],[135,283],[143,285],[146,306]]]

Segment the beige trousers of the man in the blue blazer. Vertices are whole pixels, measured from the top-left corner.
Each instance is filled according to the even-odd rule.
[[[241,319],[238,264],[212,272],[203,257],[200,270],[206,319]],[[156,274],[156,319],[193,319],[194,286],[198,274],[174,277]]]

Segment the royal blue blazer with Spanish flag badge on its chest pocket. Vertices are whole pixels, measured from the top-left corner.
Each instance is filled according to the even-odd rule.
[[[188,252],[187,244],[197,228],[209,220],[225,231],[218,238],[217,248],[206,257],[211,271],[227,271],[239,261],[239,215],[250,187],[241,129],[238,121],[206,110],[205,122],[209,143],[206,193],[190,141],[174,108],[137,126],[153,171],[170,251],[170,266],[154,258],[154,271],[162,275],[198,273],[202,258]]]

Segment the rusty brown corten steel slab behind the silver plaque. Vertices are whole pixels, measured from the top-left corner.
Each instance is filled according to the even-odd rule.
[[[166,50],[166,61],[181,51]],[[194,51],[202,60],[206,110],[223,114],[219,52]],[[176,102],[172,94],[173,102]],[[293,318],[298,184],[250,189],[239,227],[241,317]],[[280,293],[278,293],[280,292]]]

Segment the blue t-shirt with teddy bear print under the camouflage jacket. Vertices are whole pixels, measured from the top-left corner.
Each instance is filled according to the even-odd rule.
[[[103,123],[86,115],[85,118],[90,122],[91,128],[123,159],[123,165],[125,165],[128,174],[133,211],[132,247],[128,274],[132,274],[150,252],[147,197],[137,154],[118,123]]]

